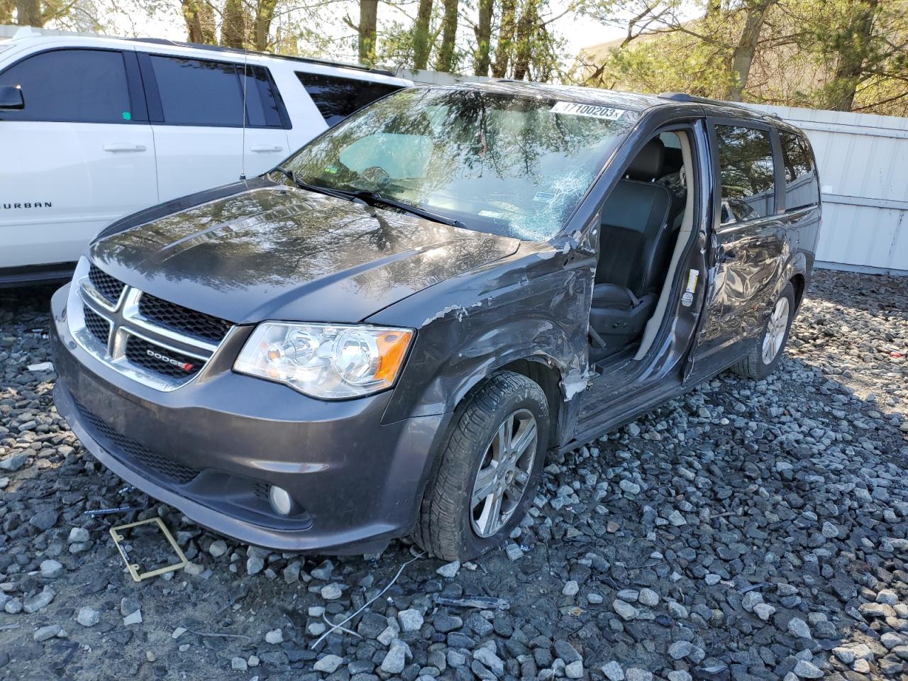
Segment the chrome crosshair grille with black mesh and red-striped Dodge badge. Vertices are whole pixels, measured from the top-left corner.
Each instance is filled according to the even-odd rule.
[[[86,259],[73,281],[67,314],[76,342],[157,390],[175,390],[199,375],[232,330],[229,321],[143,293]]]

